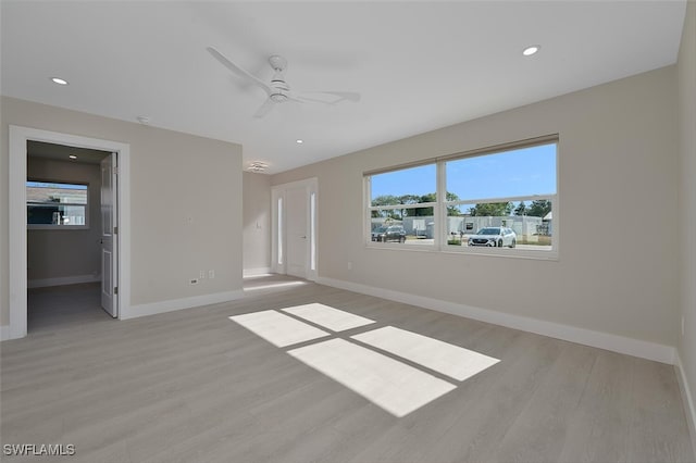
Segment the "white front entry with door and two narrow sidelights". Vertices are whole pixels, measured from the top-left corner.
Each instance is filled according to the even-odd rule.
[[[271,189],[271,198],[273,272],[315,280],[316,178],[277,185]]]

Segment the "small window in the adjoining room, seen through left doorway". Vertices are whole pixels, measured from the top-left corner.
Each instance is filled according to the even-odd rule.
[[[88,188],[80,184],[26,183],[29,228],[86,228]]]

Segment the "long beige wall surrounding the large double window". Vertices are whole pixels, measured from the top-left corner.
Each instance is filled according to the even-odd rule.
[[[657,240],[632,232],[645,211],[655,223],[680,216],[675,85],[669,66],[281,173],[272,184],[319,178],[320,277],[674,346],[679,227],[661,227]],[[365,246],[363,172],[548,134],[560,137],[558,260]],[[588,239],[587,216],[605,224],[601,236]]]

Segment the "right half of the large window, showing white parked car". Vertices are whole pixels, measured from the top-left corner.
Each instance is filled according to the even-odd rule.
[[[556,143],[447,161],[445,175],[448,247],[552,250]]]

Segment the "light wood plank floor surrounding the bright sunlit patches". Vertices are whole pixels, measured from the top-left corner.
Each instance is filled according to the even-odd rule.
[[[123,322],[89,285],[33,291],[29,336],[0,346],[0,436],[76,453],[2,460],[695,460],[672,366],[293,281],[254,278],[233,303]],[[500,362],[397,418],[227,318],[310,302]]]

